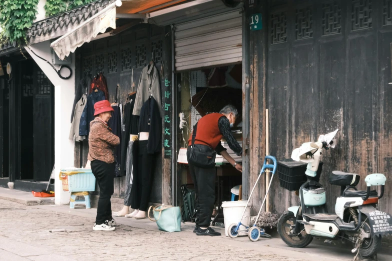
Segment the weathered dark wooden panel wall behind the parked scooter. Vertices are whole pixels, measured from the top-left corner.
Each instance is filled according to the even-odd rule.
[[[323,152],[320,179],[333,211],[340,188],[328,183],[332,170],[360,174],[361,189],[367,174],[390,177],[392,1],[251,2],[246,3],[246,16],[262,13],[263,29],[247,32],[250,188],[265,155],[268,108],[270,154],[278,160],[289,158],[301,143],[339,128],[336,148]],[[270,210],[281,213],[299,198],[279,187],[275,178]],[[256,204],[265,193],[264,180]],[[390,187],[386,185],[380,201],[386,211],[392,211]]]

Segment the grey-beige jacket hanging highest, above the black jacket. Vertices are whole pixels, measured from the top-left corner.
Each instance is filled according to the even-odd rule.
[[[148,64],[143,68],[140,75],[139,85],[136,93],[135,106],[133,108],[134,115],[140,115],[143,103],[149,98],[150,94],[156,100],[161,117],[163,116],[161,102],[161,84],[158,69],[155,64]]]

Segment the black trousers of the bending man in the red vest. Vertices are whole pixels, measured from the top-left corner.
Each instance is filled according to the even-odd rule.
[[[189,158],[190,146],[187,150]],[[189,162],[189,159],[188,159]],[[211,223],[212,210],[215,202],[215,175],[214,167],[201,168],[189,163],[196,194],[196,224],[207,227]]]

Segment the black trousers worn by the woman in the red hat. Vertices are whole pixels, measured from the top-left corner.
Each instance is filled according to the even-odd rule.
[[[115,165],[115,162],[106,163],[98,159],[91,161],[91,170],[99,185],[96,224],[102,224],[106,220],[112,220],[112,203],[110,202],[110,198],[114,192]]]

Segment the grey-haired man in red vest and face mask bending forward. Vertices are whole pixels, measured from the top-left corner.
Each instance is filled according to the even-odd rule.
[[[233,105],[226,105],[219,113],[207,114],[199,119],[196,133],[192,133],[188,140],[187,158],[197,198],[196,226],[193,232],[197,235],[215,236],[221,234],[210,227],[215,202],[215,166],[200,167],[191,163],[189,157],[192,148],[192,138],[194,138],[193,145],[198,148],[197,150],[212,148],[237,170],[242,171],[241,164],[235,162],[220,141],[224,137],[229,147],[237,155],[242,155],[242,147],[230,131],[237,116],[238,110]]]

